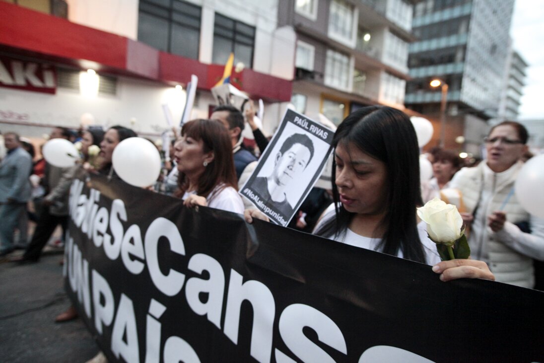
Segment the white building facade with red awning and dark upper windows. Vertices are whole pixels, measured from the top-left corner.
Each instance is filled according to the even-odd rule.
[[[215,106],[210,89],[230,52],[231,83],[264,101],[274,131],[292,94],[295,34],[277,24],[278,0],[0,1],[0,131],[41,136],[82,118],[144,136],[178,124],[191,75],[193,118]],[[93,73],[88,76],[87,70]],[[85,79],[98,79],[91,93]],[[179,85],[181,87],[175,87]]]

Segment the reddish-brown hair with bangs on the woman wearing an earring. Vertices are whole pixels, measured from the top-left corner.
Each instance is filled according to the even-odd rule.
[[[233,187],[238,190],[236,171],[232,158],[232,143],[227,129],[218,120],[196,119],[188,121],[181,129],[181,136],[190,137],[197,141],[202,140],[205,153],[213,151],[213,161],[206,167],[199,177],[196,194],[208,197],[216,186],[224,184],[225,187]],[[176,196],[183,196],[189,187],[189,179],[185,173],[178,175],[179,190]]]

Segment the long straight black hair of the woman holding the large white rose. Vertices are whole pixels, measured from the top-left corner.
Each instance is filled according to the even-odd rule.
[[[387,208],[380,225],[385,233],[380,247],[396,256],[399,249],[405,259],[425,262],[423,245],[416,224],[416,206],[422,205],[419,184],[419,149],[416,131],[409,117],[391,107],[369,106],[351,113],[338,126],[333,146],[354,145],[385,164],[387,170]],[[336,180],[333,161],[332,179]],[[336,218],[326,220],[316,231],[320,236],[345,233],[355,213],[339,203],[338,188],[332,184]]]

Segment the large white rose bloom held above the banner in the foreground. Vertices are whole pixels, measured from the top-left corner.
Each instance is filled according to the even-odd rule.
[[[434,242],[451,245],[461,237],[463,219],[454,205],[435,198],[417,208],[417,215],[427,224],[427,233]]]

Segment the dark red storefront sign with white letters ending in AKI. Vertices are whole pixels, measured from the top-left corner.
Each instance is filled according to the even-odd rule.
[[[57,72],[51,64],[0,57],[0,87],[55,94]]]

